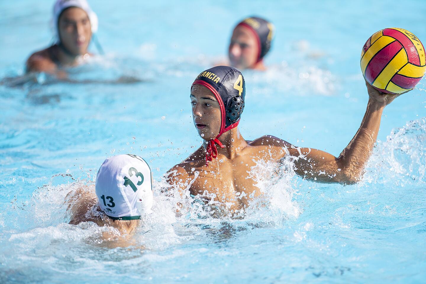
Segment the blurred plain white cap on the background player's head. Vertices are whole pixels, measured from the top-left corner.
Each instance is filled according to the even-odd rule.
[[[98,16],[89,6],[86,0],[57,0],[55,6],[53,6],[53,18],[50,23],[52,32],[54,34],[55,40],[59,43],[59,34],[58,34],[58,20],[60,14],[63,10],[77,7],[83,9],[87,16],[89,17],[90,27],[92,29],[92,34],[98,31]]]

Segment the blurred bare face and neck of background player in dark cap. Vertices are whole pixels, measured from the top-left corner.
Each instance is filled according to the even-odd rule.
[[[228,52],[231,66],[237,69],[265,69],[263,61],[257,61],[259,46],[256,35],[245,26],[234,29]]]

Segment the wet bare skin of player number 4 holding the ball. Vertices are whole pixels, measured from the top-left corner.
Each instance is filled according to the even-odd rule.
[[[250,200],[261,194],[248,173],[259,160],[273,161],[279,166],[285,155],[291,155],[296,159],[296,174],[303,178],[322,183],[354,184],[360,180],[371,155],[383,109],[398,96],[382,95],[368,83],[366,85],[369,95],[366,113],[354,138],[339,157],[317,149],[296,147],[271,135],[246,141],[236,127],[219,137],[225,148],[218,146],[217,159],[206,166],[204,143],[170,169],[168,181],[178,187],[182,195],[189,187],[190,194],[224,204],[231,213],[248,207]],[[190,99],[199,135],[204,141],[215,138],[221,121],[215,96],[206,87],[195,85]]]

